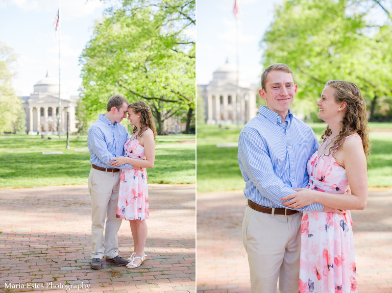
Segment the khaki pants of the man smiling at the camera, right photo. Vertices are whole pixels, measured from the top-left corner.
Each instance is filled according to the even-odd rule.
[[[301,213],[266,214],[249,206],[242,222],[252,293],[297,293],[300,278]]]

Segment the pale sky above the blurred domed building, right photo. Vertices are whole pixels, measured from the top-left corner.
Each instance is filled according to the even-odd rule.
[[[239,68],[251,83],[260,83],[263,70],[260,40],[283,0],[240,0]],[[234,0],[196,2],[196,82],[208,84],[212,73],[226,63],[236,64]]]

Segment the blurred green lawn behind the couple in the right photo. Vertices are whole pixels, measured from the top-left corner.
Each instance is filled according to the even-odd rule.
[[[309,124],[317,137],[325,123]],[[217,148],[217,143],[237,142],[243,125],[197,126],[197,190],[201,192],[243,189],[238,167],[238,148]],[[372,153],[369,186],[392,186],[392,123],[371,123]]]

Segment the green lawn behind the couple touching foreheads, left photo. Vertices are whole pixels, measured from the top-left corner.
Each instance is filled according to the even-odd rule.
[[[87,136],[65,137],[0,135],[0,188],[87,184],[91,163]],[[147,169],[149,183],[195,182],[195,136],[157,137],[154,168]],[[77,152],[76,150],[82,149]],[[42,155],[61,151],[62,155]]]

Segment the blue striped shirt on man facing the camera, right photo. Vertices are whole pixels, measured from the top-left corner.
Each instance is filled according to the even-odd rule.
[[[246,182],[243,193],[269,208],[286,208],[281,198],[308,184],[306,164],[320,145],[312,129],[290,110],[286,123],[281,121],[278,113],[260,106],[238,140],[238,163]],[[323,207],[313,203],[298,210],[322,211]]]

